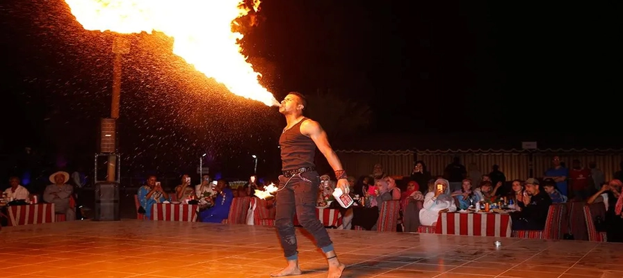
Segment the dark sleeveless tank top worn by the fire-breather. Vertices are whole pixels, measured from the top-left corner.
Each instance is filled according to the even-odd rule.
[[[315,166],[316,143],[312,138],[300,133],[300,124],[306,120],[309,119],[302,118],[300,122],[284,131],[279,138],[283,171]]]

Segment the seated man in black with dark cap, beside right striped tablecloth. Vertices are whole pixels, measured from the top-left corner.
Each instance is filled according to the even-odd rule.
[[[524,185],[525,193],[521,202],[521,211],[511,213],[513,230],[542,230],[547,221],[547,213],[551,206],[551,198],[540,190],[539,181],[530,178]]]

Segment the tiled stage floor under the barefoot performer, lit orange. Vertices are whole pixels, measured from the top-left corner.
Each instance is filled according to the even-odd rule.
[[[326,263],[298,231],[300,277]],[[623,244],[330,230],[343,277],[623,277]],[[60,222],[5,227],[2,277],[268,277],[284,266],[271,227]]]

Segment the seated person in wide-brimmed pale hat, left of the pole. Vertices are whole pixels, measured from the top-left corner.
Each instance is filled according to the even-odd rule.
[[[74,208],[70,208],[70,198],[74,192],[74,188],[67,184],[70,180],[70,174],[58,171],[50,175],[50,184],[45,188],[43,200],[47,203],[54,204],[55,213],[65,214],[65,221],[76,219]]]

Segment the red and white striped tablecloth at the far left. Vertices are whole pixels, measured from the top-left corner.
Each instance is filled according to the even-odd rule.
[[[56,220],[54,204],[25,204],[7,208],[10,226],[53,223]]]

